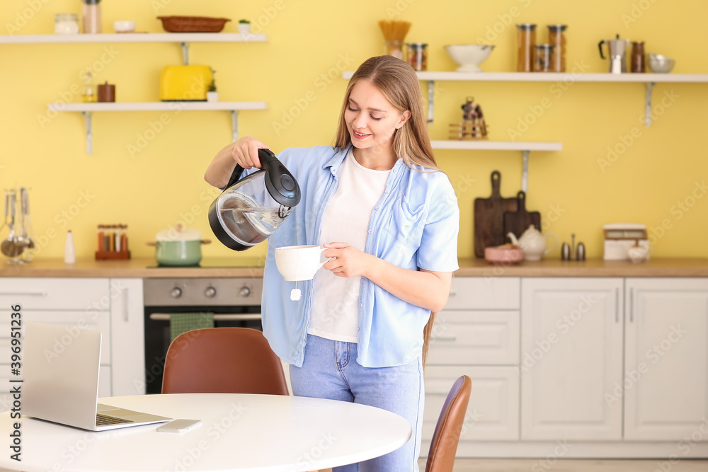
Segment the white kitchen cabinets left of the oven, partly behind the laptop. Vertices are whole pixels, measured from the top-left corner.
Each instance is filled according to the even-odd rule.
[[[11,377],[18,378],[10,370],[10,313],[16,305],[22,307],[22,323],[39,321],[101,331],[98,396],[144,393],[142,279],[3,278],[0,382],[6,386]],[[1,395],[0,409],[10,406],[9,395]]]

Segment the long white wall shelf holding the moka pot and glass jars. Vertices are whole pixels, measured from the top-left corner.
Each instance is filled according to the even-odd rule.
[[[353,71],[344,71],[350,79]],[[428,81],[428,122],[433,122],[435,110],[435,81],[498,81],[498,82],[632,82],[644,84],[644,125],[651,126],[651,93],[658,83],[704,84],[708,74],[583,74],[571,72],[416,72],[418,80]]]

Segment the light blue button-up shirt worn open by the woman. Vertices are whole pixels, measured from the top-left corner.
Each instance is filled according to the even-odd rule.
[[[263,333],[273,351],[297,367],[304,359],[312,280],[297,282],[302,297],[290,300],[295,282],[285,281],[278,272],[274,250],[319,243],[324,210],[337,188],[337,171],[347,151],[316,146],[285,149],[278,155],[297,180],[301,198],[268,238]],[[455,191],[444,173],[416,168],[402,159],[396,161],[371,212],[365,252],[405,269],[452,272],[458,268]],[[420,357],[430,311],[395,297],[365,277],[360,280],[357,362],[364,367],[390,367]]]

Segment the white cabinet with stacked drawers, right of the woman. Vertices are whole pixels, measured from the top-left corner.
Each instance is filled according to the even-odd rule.
[[[428,350],[423,454],[447,393],[462,374],[472,379],[472,394],[457,454],[469,456],[479,441],[518,439],[519,322],[518,278],[453,278]]]

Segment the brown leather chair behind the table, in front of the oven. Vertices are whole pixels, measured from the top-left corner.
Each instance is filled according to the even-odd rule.
[[[288,394],[280,358],[252,328],[178,335],[167,350],[162,393]]]

